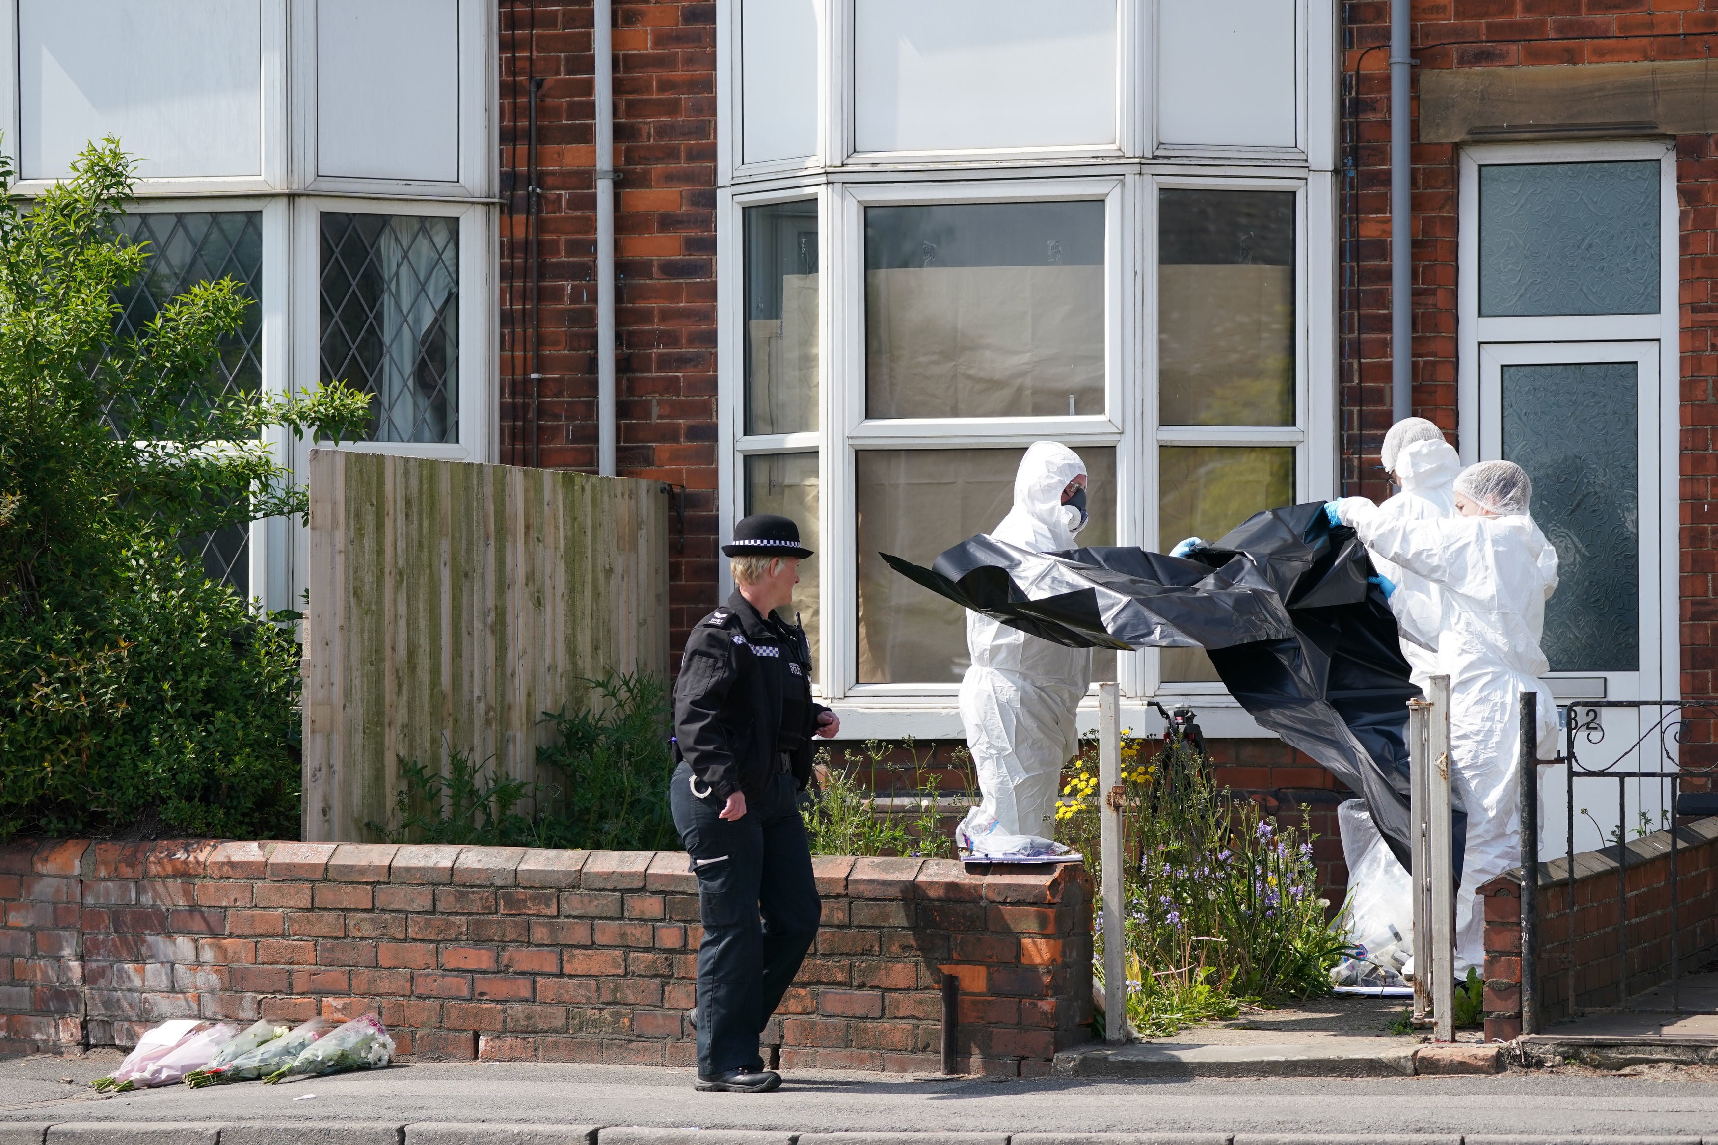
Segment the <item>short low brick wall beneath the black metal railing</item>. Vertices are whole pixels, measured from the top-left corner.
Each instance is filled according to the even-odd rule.
[[[1718,944],[1718,819],[1677,827],[1677,939],[1682,973]],[[1539,863],[1539,1027],[1581,1009],[1613,1008],[1670,978],[1670,833],[1634,839],[1618,888],[1615,846]],[[1479,888],[1486,896],[1486,1040],[1520,1033],[1520,869]],[[1570,903],[1574,906],[1570,908]],[[1620,989],[1627,965],[1627,987]]]

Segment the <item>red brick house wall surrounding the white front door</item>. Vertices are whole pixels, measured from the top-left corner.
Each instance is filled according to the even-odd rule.
[[[1718,0],[1414,0],[1416,77],[1428,69],[1709,58]],[[1343,481],[1385,496],[1378,450],[1390,426],[1390,5],[1345,5]],[[1416,79],[1417,84],[1417,79]],[[1417,137],[1417,136],[1416,136]],[[1457,429],[1457,153],[1414,144],[1414,412]],[[1718,148],[1677,139],[1680,204],[1682,692],[1718,692]],[[1709,721],[1685,730],[1687,764],[1718,762]],[[1691,788],[1704,786],[1704,779]]]

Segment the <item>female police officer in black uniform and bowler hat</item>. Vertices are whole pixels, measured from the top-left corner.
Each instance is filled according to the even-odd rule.
[[[698,872],[698,1088],[768,1094],[758,1035],[818,934],[821,905],[799,791],[811,736],[840,730],[811,702],[806,632],[775,618],[811,549],[787,517],[734,527],[734,596],[685,640],[673,688],[668,802]],[[759,924],[761,915],[761,924]]]

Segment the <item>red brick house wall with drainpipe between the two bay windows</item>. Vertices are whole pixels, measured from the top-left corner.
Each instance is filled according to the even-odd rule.
[[[596,149],[591,5],[500,10],[502,460],[531,463],[526,120],[538,100],[536,443],[543,465],[596,470]],[[675,651],[716,606],[716,5],[613,5],[617,465],[684,486],[670,542]]]

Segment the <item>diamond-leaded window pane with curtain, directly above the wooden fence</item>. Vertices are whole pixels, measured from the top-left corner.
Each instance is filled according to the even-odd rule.
[[[459,441],[459,220],[321,216],[321,378],[369,395],[369,441]]]

